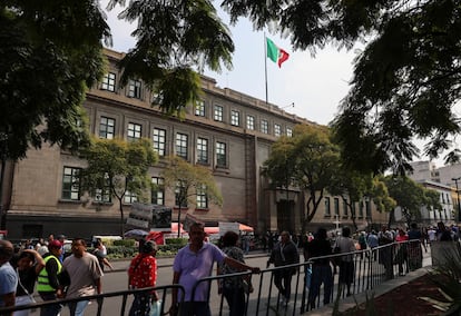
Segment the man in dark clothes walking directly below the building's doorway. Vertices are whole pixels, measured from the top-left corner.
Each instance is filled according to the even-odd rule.
[[[267,267],[274,264],[275,267],[283,267],[300,263],[300,254],[296,245],[291,240],[290,233],[284,230],[281,234],[281,240],[274,246]],[[296,268],[274,270],[274,284],[281,295],[282,305],[287,305],[292,292],[292,277],[296,274]]]

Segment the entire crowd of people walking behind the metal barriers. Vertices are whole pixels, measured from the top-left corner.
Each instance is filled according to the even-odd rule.
[[[21,249],[14,248],[8,240],[0,240],[0,307],[33,303],[36,284],[37,293],[43,302],[56,303],[42,307],[41,316],[59,315],[63,308],[59,298],[80,298],[101,293],[104,269],[114,268],[107,260],[107,249],[101,240],[96,243],[95,250],[90,254],[87,251],[86,241],[76,238],[71,243],[71,255],[63,258],[65,237],[59,237],[55,239],[50,235],[47,241],[35,246],[27,243]],[[315,308],[322,285],[323,304],[330,304],[336,269],[345,295],[352,294],[356,250],[370,248],[371,251],[366,255],[384,265],[386,274],[392,270],[393,265],[398,265],[399,274],[404,275],[409,269],[422,266],[422,251],[432,241],[458,240],[459,231],[454,226],[445,227],[443,223],[439,223],[437,227],[425,229],[419,228],[416,224],[412,224],[409,229],[389,229],[383,226],[377,233],[357,231],[354,236],[350,227],[345,226],[337,236],[328,236],[325,228],[320,228],[316,234],[307,233],[305,236],[291,236],[288,231],[282,231],[279,235],[268,234],[267,237],[271,237],[267,241],[273,241],[267,243],[269,258],[266,267],[292,265],[273,271],[279,304],[286,306],[290,302],[292,277],[298,271],[298,254],[302,248],[304,259],[312,263],[305,270],[307,305]],[[251,274],[259,273],[259,267],[245,264],[247,249],[241,244],[242,236],[234,231],[227,231],[223,236],[219,247],[205,240],[204,226],[193,224],[189,228],[189,243],[175,256],[173,284],[180,285],[185,292],[178,293],[177,288],[171,290],[170,315],[180,315],[179,310],[187,310],[188,315],[210,315],[209,283],[203,282],[198,286],[196,283],[212,275],[215,263],[217,275],[247,271],[234,277],[223,277],[218,282],[218,293],[227,302],[229,315],[244,315],[247,303],[245,295],[253,292]],[[393,247],[379,247],[391,243],[394,243]],[[143,243],[139,250],[128,268],[128,288],[153,288],[157,280],[158,246],[149,240]],[[337,256],[332,256],[335,254]],[[340,256],[341,254],[344,255]],[[361,259],[364,258],[363,251],[359,255]],[[129,315],[153,315],[150,309],[155,308],[155,302],[158,302],[155,290],[136,292]],[[70,315],[85,315],[88,304],[89,300],[86,299],[68,304]],[[29,310],[14,312],[13,315],[27,316]]]

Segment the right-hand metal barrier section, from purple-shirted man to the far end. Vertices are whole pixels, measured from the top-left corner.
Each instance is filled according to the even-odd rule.
[[[333,263],[335,259],[341,259],[343,256],[353,256],[353,280],[350,288],[350,295],[353,296],[373,290],[382,283],[398,277],[400,271],[399,265],[401,265],[401,268],[403,270],[402,274],[422,267],[422,251],[423,249],[421,248],[420,240],[392,243],[389,245],[375,247],[373,249],[369,248],[366,250],[356,250],[347,254],[314,257],[305,263],[283,267],[273,267],[262,270],[259,275],[239,273],[227,276],[210,276],[200,279],[195,285],[194,292],[196,287],[202,283],[208,283],[208,297],[210,297],[212,290],[217,292],[217,280],[230,276],[243,277],[245,275],[251,275],[255,292],[253,294],[245,295],[245,315],[301,315],[312,309],[308,304],[308,293],[312,290],[312,288],[307,286],[306,271],[312,268],[316,260],[327,258]],[[331,264],[331,268],[333,271],[333,264]],[[274,285],[274,274],[286,269],[292,269],[295,271],[295,274],[292,276],[292,290],[290,302],[287,304],[281,299],[279,292]],[[334,303],[336,299],[342,299],[347,296],[345,286],[339,282],[339,275],[340,267],[336,267],[336,273],[333,274],[330,303]],[[322,285],[318,289],[318,295],[315,297],[315,309],[324,306],[324,285]],[[218,306],[218,309],[212,309],[212,315],[228,315],[228,308],[224,296],[220,296]]]

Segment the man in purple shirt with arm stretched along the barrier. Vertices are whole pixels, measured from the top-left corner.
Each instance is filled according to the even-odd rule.
[[[189,228],[189,244],[179,249],[173,264],[173,284],[179,284],[185,288],[184,306],[178,306],[178,290],[173,289],[171,315],[177,315],[178,310],[187,310],[187,315],[210,316],[208,305],[208,286],[207,282],[200,283],[195,289],[195,284],[205,277],[210,276],[214,263],[225,263],[238,270],[252,270],[259,273],[259,268],[249,267],[241,261],[227,257],[218,247],[213,244],[204,243],[204,226],[194,223]]]

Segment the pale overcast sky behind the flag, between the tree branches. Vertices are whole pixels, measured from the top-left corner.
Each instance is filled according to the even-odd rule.
[[[102,8],[106,2],[102,1]],[[112,49],[126,52],[135,45],[135,39],[130,37],[135,26],[119,21],[116,18],[119,11],[116,8],[109,12],[108,22],[114,37]],[[228,24],[228,18],[222,12],[219,14]],[[233,69],[223,67],[222,73],[205,71],[205,75],[215,78],[220,88],[265,100],[264,32],[253,31],[252,23],[246,19],[230,27],[230,32],[235,43]],[[282,68],[267,59],[268,101],[287,112],[327,125],[349,90],[354,51],[337,51],[330,47],[318,51],[314,58],[308,51],[293,51],[288,39],[267,31],[266,36],[290,53]]]

